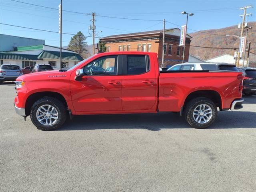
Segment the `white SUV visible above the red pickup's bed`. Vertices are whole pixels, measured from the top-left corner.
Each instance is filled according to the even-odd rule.
[[[168,71],[179,70],[228,70],[238,71],[236,65],[227,63],[213,63],[213,62],[187,62],[183,64],[176,64],[168,69]]]

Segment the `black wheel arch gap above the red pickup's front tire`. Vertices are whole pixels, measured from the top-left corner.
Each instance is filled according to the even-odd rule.
[[[28,98],[26,99],[26,104],[25,104],[26,116],[30,115],[30,109],[31,109],[32,105],[34,104],[34,102],[36,102],[38,99],[43,98],[45,96],[53,97],[53,98],[60,100],[60,102],[62,102],[64,104],[64,106],[66,108],[68,108],[66,99],[64,98],[64,96],[62,94],[60,94],[58,92],[52,92],[52,91],[36,92],[36,93],[33,93],[30,96],[28,96]]]

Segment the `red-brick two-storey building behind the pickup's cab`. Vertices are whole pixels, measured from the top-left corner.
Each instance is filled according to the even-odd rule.
[[[186,49],[184,62],[188,62],[190,38],[186,36]],[[99,42],[106,43],[106,51],[145,51],[158,53],[159,65],[162,62],[163,30],[154,30],[130,34],[112,35],[100,38]],[[179,46],[180,29],[165,30],[164,67],[182,63],[183,46]]]

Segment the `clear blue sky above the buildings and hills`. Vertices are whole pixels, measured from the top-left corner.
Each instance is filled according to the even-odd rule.
[[[60,0],[19,0],[30,4],[58,8]],[[213,28],[223,28],[236,25],[242,22],[239,15],[243,14],[239,10],[242,6],[252,5],[254,8],[247,10],[252,13],[248,17],[248,22],[256,21],[256,1],[236,0],[236,1],[85,1],[85,0],[63,0],[62,9],[82,13],[96,13],[96,32],[100,37],[124,34],[129,32],[140,32],[148,30],[162,29],[163,23],[160,21],[140,21],[125,20],[100,17],[121,17],[147,20],[163,20],[178,25],[184,25],[186,16],[180,14],[183,10],[193,12],[194,16],[189,17],[188,28],[194,30],[206,30]],[[22,4],[12,0],[0,0],[0,22],[29,28],[58,31],[58,10],[40,8],[28,4]],[[98,14],[98,15],[97,15]],[[90,36],[88,26],[91,24],[91,16],[63,12],[62,32],[76,34],[79,30],[84,35]],[[166,23],[166,28],[177,26]],[[188,33],[194,32],[188,30]],[[1,34],[23,36],[28,38],[39,38],[46,40],[46,44],[59,46],[60,35],[50,32],[35,31],[25,28],[0,25]],[[68,45],[72,35],[63,34],[62,44]],[[92,44],[92,38],[87,38],[88,44]],[[96,38],[96,42],[98,39]]]

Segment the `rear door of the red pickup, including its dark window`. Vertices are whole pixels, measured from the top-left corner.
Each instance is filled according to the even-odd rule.
[[[157,106],[155,66],[148,55],[124,55],[122,67],[123,110],[153,111]]]

